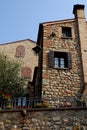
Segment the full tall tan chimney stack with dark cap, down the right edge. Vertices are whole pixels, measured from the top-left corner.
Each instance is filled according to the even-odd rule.
[[[74,5],[73,14],[77,22],[78,41],[81,48],[84,83],[87,86],[87,24],[84,15],[84,5]]]

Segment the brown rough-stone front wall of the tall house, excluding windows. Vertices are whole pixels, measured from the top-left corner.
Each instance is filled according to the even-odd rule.
[[[62,27],[71,27],[72,37],[62,37]],[[54,37],[50,34],[55,33]],[[43,24],[42,95],[44,97],[73,96],[83,88],[81,52],[75,20]],[[70,52],[71,69],[48,66],[50,51]]]

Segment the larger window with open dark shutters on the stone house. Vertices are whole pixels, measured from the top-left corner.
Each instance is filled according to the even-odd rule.
[[[48,58],[49,67],[53,68],[71,68],[71,53],[50,51]]]

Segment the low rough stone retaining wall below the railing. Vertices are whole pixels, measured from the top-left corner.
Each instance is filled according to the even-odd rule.
[[[0,113],[0,130],[76,130],[83,126],[87,128],[87,110],[31,110],[25,117],[21,111]]]

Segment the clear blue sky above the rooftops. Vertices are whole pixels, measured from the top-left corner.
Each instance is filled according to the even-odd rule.
[[[73,5],[87,0],[0,0],[0,44],[37,41],[39,24],[74,18]]]

